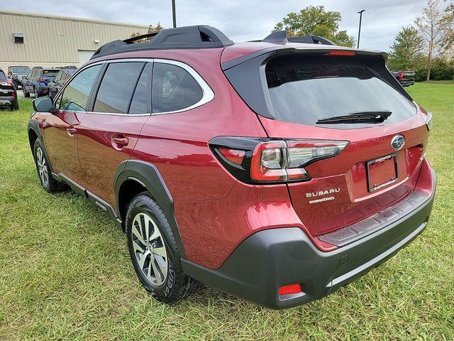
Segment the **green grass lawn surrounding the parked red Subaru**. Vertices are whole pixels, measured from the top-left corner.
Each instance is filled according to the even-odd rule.
[[[454,82],[407,89],[434,117],[428,228],[355,283],[279,311],[211,288],[178,305],[155,301],[101,210],[40,188],[31,102],[0,112],[0,340],[454,340]]]

